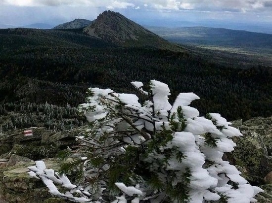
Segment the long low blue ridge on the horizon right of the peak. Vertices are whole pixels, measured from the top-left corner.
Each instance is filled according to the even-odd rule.
[[[159,36],[176,43],[230,46],[239,48],[272,48],[272,34],[208,27],[146,27]]]

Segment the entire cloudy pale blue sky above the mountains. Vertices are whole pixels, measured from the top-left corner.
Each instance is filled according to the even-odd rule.
[[[272,22],[272,0],[0,0],[0,24],[93,20],[104,10],[120,12],[141,24],[223,20]]]

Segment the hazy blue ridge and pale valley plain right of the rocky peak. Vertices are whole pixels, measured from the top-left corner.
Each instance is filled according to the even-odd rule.
[[[207,27],[146,28],[215,63],[237,68],[257,64],[272,67],[272,34]]]

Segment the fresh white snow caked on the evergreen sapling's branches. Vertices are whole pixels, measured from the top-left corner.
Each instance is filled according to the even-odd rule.
[[[192,101],[200,99],[194,93],[179,94],[172,106],[168,101],[170,89],[167,84],[151,80],[149,92],[142,89],[142,82],[132,82],[132,84],[149,99],[139,103],[139,98],[134,94],[114,93],[110,89],[89,89],[92,95],[87,98],[86,103],[79,106],[79,111],[92,122],[92,128],[86,131],[87,137],[79,136],[78,139],[85,141],[86,146],[92,147],[94,153],[111,160],[124,154],[128,146],[146,146],[154,136],[167,130],[171,133],[171,140],[160,145],[157,150],[148,152],[148,156],[139,156],[139,159],[148,165],[148,170],[156,173],[164,184],[170,181],[172,186],[176,186],[182,181],[184,172],[189,170],[188,200],[186,200],[188,203],[220,201],[220,195],[226,196],[227,203],[256,202],[254,196],[262,190],[248,184],[247,180],[240,176],[241,172],[229,162],[222,160],[225,152],[234,150],[236,144],[230,138],[241,136],[239,130],[229,126],[231,123],[218,113],[209,114],[212,120],[200,117],[198,110],[189,106]],[[180,129],[171,130],[169,119],[172,115],[176,115],[179,106],[181,106],[183,124],[186,125],[183,132],[179,132]],[[181,122],[177,117],[174,121]],[[207,137],[214,140],[213,146],[207,143]],[[107,150],[104,150],[105,148]],[[166,156],[167,151],[171,151],[172,154]],[[178,160],[177,155],[180,154],[182,158]],[[83,154],[81,159],[88,165],[87,156]],[[107,172],[110,167],[106,164],[102,169]],[[36,162],[36,166],[29,169],[30,176],[42,178],[52,194],[66,197],[74,202],[91,201],[89,197],[92,195],[92,190],[83,190],[80,189],[82,187],[73,185],[67,176],[46,169],[43,161]],[[88,168],[85,172],[89,177],[96,177],[99,170]],[[170,173],[175,174],[176,178],[170,180],[168,177]],[[131,203],[139,203],[147,199],[157,203],[167,196],[163,190],[151,191],[144,177],[139,175],[138,178],[138,182],[133,180],[135,186],[126,186],[122,182],[115,183],[123,195],[116,197],[112,203],[127,203],[128,196],[131,197]],[[229,185],[229,181],[235,182],[238,189]],[[105,190],[106,183],[103,180],[101,182]],[[73,197],[71,191],[62,194],[54,183],[72,189],[71,191],[76,190],[82,197]],[[101,189],[101,196],[103,190]]]

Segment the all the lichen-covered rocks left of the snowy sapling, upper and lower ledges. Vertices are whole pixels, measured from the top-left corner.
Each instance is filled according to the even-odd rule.
[[[25,136],[24,130],[33,135]],[[41,180],[31,178],[27,167],[46,158],[48,168],[58,169],[57,153],[77,147],[75,136],[83,131],[84,127],[62,132],[34,127],[0,134],[0,203],[64,203],[52,197]]]

